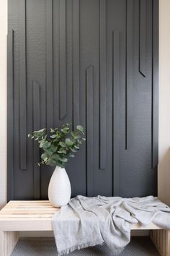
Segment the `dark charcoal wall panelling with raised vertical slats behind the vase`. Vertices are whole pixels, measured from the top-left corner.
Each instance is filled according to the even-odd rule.
[[[8,199],[47,198],[27,133],[63,122],[72,196],[156,195],[158,0],[9,0]]]

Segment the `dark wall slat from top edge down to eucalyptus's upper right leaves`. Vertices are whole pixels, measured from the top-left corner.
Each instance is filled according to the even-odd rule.
[[[80,122],[80,27],[79,0],[73,0],[73,128]]]

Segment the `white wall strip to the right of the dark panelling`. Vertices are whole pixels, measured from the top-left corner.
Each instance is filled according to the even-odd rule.
[[[170,205],[170,1],[159,5],[158,196]]]

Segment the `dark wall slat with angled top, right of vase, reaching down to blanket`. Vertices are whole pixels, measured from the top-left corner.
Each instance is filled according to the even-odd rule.
[[[93,195],[93,66],[86,69],[86,168],[87,196]]]

